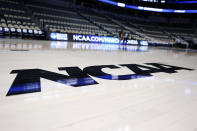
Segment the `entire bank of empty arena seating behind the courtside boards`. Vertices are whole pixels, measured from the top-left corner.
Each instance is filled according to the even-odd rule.
[[[130,39],[173,43],[176,38],[196,40],[196,29],[187,18],[148,18],[96,11],[83,7],[55,7],[40,3],[0,0],[0,36],[47,38],[51,32],[119,36],[123,29]]]

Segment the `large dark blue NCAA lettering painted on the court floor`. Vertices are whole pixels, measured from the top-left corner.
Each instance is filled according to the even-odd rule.
[[[121,67],[127,67],[131,70],[127,75],[113,75],[103,72],[104,68],[119,69],[121,67],[116,65],[96,65],[85,67],[83,70],[79,67],[60,67],[60,71],[66,71],[68,75],[59,74],[42,69],[24,69],[13,70],[11,74],[17,74],[14,82],[12,83],[7,96],[41,92],[40,78],[48,79],[57,83],[65,84],[71,87],[82,87],[88,85],[99,84],[91,76],[106,79],[106,80],[132,80],[144,77],[151,77],[153,73],[177,73],[177,70],[194,69],[166,65],[161,63],[145,63],[146,65],[139,64],[120,64]],[[148,66],[151,65],[151,66]],[[144,70],[146,69],[146,70]]]

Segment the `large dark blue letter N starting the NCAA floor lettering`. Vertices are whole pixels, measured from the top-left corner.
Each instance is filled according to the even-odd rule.
[[[72,87],[98,84],[78,67],[62,67],[59,68],[59,70],[65,70],[69,75],[67,76],[41,69],[13,70],[11,74],[17,73],[17,76],[12,83],[7,96],[40,92],[41,77]]]

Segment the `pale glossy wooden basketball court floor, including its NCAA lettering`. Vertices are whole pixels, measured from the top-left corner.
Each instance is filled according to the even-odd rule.
[[[197,51],[0,39],[1,131],[197,131]]]

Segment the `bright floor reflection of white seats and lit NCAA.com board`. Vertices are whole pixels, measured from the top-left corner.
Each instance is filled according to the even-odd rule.
[[[0,50],[100,50],[100,51],[148,51],[148,46],[136,45],[117,45],[117,44],[94,44],[94,43],[79,43],[79,42],[65,42],[65,41],[32,41],[19,40],[0,41]]]

